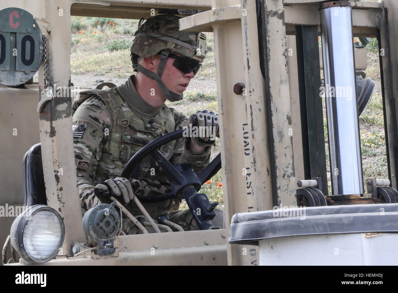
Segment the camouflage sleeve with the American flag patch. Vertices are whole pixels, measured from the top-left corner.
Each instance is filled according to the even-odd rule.
[[[94,177],[107,139],[105,129],[110,131],[109,112],[98,96],[88,98],[73,114],[72,125],[77,186],[82,208],[88,210],[99,203],[94,195]]]

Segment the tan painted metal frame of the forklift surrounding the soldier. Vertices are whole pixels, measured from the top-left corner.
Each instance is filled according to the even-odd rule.
[[[268,58],[266,78],[263,79],[259,66],[255,1],[185,0],[170,3],[150,0],[142,3],[137,0],[42,0],[41,5],[14,1],[14,6],[28,10],[36,17],[47,36],[50,84],[57,86],[70,85],[71,14],[137,19],[149,17],[151,8],[155,11],[161,7],[204,9],[209,11],[181,19],[180,28],[214,31],[226,231],[127,236],[126,248],[117,258],[92,260],[79,257],[75,260],[52,260],[48,264],[123,264],[123,260],[125,264],[224,264],[226,254],[228,264],[257,264],[256,246],[226,244],[228,226],[232,215],[237,212],[269,210],[278,204],[296,205],[295,175],[299,168],[296,164],[295,169],[294,163],[295,159],[300,161],[301,147],[300,140],[295,140],[295,137],[300,137],[300,118],[297,74],[294,62],[286,53],[288,46],[295,44],[287,44],[287,35],[294,34],[295,25],[319,26],[317,8],[320,2],[264,0]],[[398,84],[392,81],[398,78],[397,56],[390,48],[398,47],[398,28],[394,26],[398,3],[384,0],[353,4],[355,35],[376,36],[380,30],[386,51],[382,64],[387,114],[396,112],[398,103],[394,104],[393,97],[398,96]],[[0,8],[4,5],[1,4]],[[388,11],[395,12],[388,14],[390,20],[387,19]],[[39,93],[43,89],[42,77],[43,67],[39,70]],[[234,94],[235,83],[244,83],[244,94]],[[396,127],[398,123],[387,122],[389,127]],[[66,254],[72,253],[72,244],[86,242],[81,228],[71,124],[70,98],[54,98],[40,113],[47,202],[64,218],[66,235],[62,248]],[[293,130],[292,136],[289,135],[290,130]],[[295,152],[293,146],[296,147]],[[157,255],[161,258],[151,256],[151,248],[158,249]]]

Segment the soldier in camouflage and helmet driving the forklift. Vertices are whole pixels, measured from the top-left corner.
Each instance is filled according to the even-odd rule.
[[[72,104],[74,152],[77,182],[83,210],[99,203],[110,203],[105,191],[119,199],[134,215],[142,212],[133,203],[129,179],[119,177],[127,161],[152,140],[192,124],[189,118],[164,104],[166,99],[182,99],[183,91],[199,70],[206,55],[203,33],[179,31],[178,16],[159,15],[149,18],[139,29],[131,46],[131,61],[136,75],[125,84],[109,90],[81,92]],[[217,116],[210,112],[211,129],[218,130]],[[209,135],[209,134],[208,134]],[[195,172],[202,171],[210,160],[214,140],[181,138],[160,148],[172,163],[190,163]],[[151,156],[142,160],[139,194],[153,196],[167,193],[166,175]],[[156,180],[155,180],[156,179]],[[198,230],[189,210],[178,211],[179,199],[143,203],[152,218],[166,213],[184,230]],[[216,218],[222,226],[223,214]],[[215,220],[216,220],[215,218]],[[216,226],[216,225],[215,225]],[[138,233],[130,220],[123,229]]]

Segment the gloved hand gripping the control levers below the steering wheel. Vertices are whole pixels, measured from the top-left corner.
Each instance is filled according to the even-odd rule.
[[[115,179],[105,180],[103,184],[96,185],[94,194],[100,199],[101,203],[111,203],[109,197],[113,195],[122,205],[126,205],[134,198],[133,188],[139,188],[138,180],[133,180],[130,183],[126,178],[116,177]]]

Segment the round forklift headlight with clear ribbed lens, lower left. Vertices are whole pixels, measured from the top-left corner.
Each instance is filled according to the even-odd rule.
[[[12,223],[11,245],[24,260],[39,264],[53,259],[65,237],[59,213],[46,205],[27,208]]]

